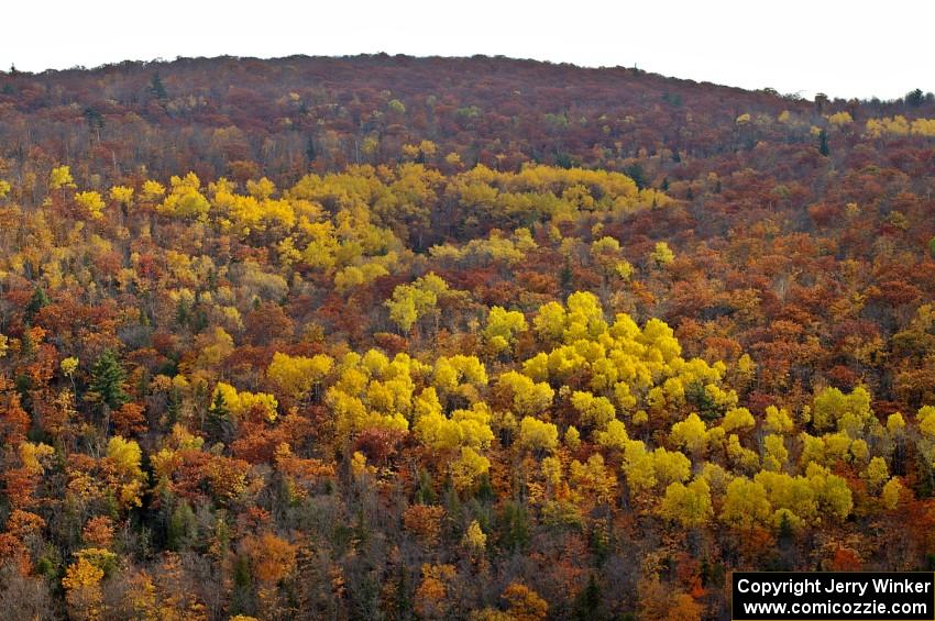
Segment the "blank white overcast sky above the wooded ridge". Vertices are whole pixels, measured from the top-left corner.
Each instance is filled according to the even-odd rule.
[[[136,8],[139,7],[139,8]],[[7,3],[0,67],[386,52],[625,66],[812,98],[935,91],[925,0]]]

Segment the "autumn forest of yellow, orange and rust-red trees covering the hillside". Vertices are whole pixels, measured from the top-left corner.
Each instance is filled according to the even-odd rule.
[[[0,71],[0,619],[728,619],[935,570],[935,96]]]

